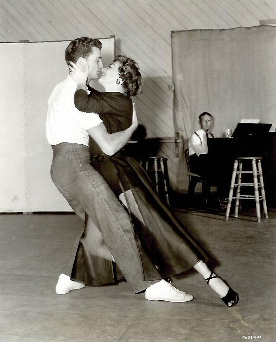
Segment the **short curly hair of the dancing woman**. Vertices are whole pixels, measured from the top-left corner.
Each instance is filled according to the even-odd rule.
[[[138,63],[133,59],[118,55],[113,62],[120,62],[119,76],[122,79],[122,86],[125,88],[126,96],[135,96],[142,91],[142,75]]]

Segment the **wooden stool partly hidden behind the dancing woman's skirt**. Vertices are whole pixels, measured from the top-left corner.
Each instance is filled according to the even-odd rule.
[[[164,197],[168,205],[170,205],[169,200],[169,177],[167,163],[164,163],[163,157],[147,157],[145,160],[141,161],[141,165],[148,172],[153,186],[155,187],[157,193],[160,197]]]

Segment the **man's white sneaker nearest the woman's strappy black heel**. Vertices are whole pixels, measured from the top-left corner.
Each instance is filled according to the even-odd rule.
[[[145,298],[150,301],[189,302],[194,297],[161,280],[146,289]]]

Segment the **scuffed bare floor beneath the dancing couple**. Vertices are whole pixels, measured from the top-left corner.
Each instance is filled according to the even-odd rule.
[[[194,295],[152,302],[129,285],[84,287],[56,295],[58,275],[81,222],[74,214],[0,214],[1,342],[276,341],[276,209],[185,208],[175,214],[212,255],[211,266],[239,292],[227,308],[196,272],[173,277]]]

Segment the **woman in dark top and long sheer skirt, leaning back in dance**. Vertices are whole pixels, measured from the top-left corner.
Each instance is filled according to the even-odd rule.
[[[98,80],[105,92],[88,87],[89,94],[86,88],[87,68],[82,71],[73,62],[71,64],[71,76],[78,85],[74,98],[76,108],[83,112],[99,113],[109,133],[129,127],[132,119],[131,96],[141,91],[142,77],[138,64],[125,56],[115,57],[113,63],[102,69],[103,74]],[[207,267],[207,253],[159,198],[141,165],[124,156],[122,151],[107,156],[93,140],[90,142],[90,152],[93,167],[128,208],[133,219],[142,266],[146,270],[144,280],[157,279],[156,271],[161,278],[166,278],[193,267],[228,307],[236,305],[238,294]],[[78,270],[81,268],[78,258],[77,254],[72,278],[84,281],[83,270]],[[149,259],[154,265],[151,275],[148,275]],[[85,272],[89,270],[86,268]],[[163,282],[165,280],[147,289],[145,297],[162,300],[155,297],[154,287],[161,286]],[[187,301],[191,299],[192,296],[187,297]]]

